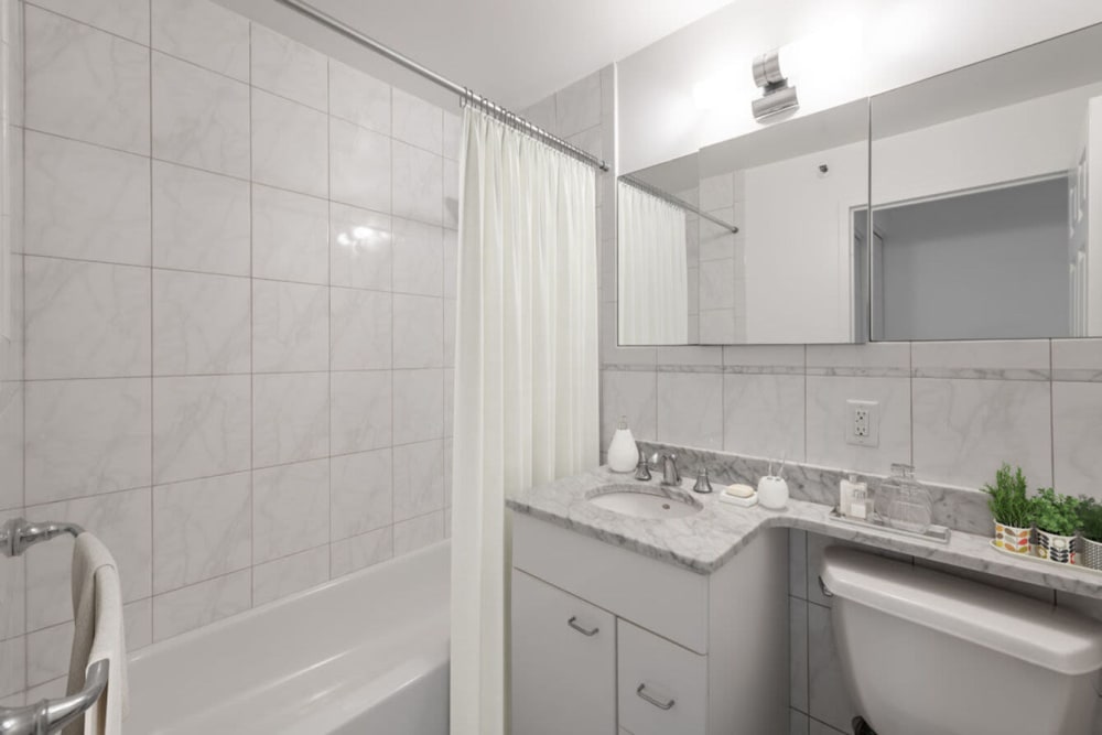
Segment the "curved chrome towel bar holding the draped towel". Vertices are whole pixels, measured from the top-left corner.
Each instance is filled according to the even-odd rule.
[[[74,538],[84,533],[76,523],[47,521],[32,523],[14,518],[0,526],[0,553],[19,556],[40,541],[47,541],[63,533]],[[86,711],[107,688],[110,661],[104,659],[88,667],[84,689],[76,694],[57,700],[42,700],[25,707],[0,707],[0,735],[54,735]]]

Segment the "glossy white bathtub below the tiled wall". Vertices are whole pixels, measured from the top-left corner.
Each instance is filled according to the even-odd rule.
[[[447,735],[449,543],[171,638],[127,735]]]

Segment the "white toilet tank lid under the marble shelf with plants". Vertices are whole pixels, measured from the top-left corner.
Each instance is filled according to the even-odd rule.
[[[822,581],[836,597],[1059,673],[1102,668],[1102,624],[1063,607],[841,547],[827,549]]]

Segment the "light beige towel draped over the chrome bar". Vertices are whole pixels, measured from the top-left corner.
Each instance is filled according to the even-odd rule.
[[[129,709],[127,651],[122,630],[122,586],[115,558],[91,533],[82,533],[73,548],[73,655],[68,693],[84,688],[85,672],[96,661],[109,661],[107,689],[65,735],[122,735]]]

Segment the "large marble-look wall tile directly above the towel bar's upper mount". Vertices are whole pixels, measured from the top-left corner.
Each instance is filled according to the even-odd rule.
[[[149,378],[26,383],[26,502],[150,484]]]

